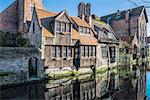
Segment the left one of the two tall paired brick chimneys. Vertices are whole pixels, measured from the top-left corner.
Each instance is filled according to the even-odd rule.
[[[82,20],[85,18],[85,4],[84,2],[81,2],[78,6],[78,17],[80,17]]]

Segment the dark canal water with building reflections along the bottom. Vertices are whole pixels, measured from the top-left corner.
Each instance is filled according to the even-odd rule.
[[[98,74],[48,80],[1,89],[1,100],[144,100],[150,96],[145,64],[121,66]],[[147,93],[146,93],[147,90]]]

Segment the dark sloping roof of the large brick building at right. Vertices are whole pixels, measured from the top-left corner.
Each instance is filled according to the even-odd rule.
[[[135,17],[135,16],[138,17],[138,16],[141,15],[144,8],[145,8],[144,6],[139,6],[139,7],[133,8],[133,9],[118,11],[118,12],[113,13],[113,14],[102,16],[101,19],[105,22],[108,22],[108,21],[111,22],[111,21],[114,21],[114,20],[124,19],[125,18],[125,13],[127,11],[129,11],[129,17]]]

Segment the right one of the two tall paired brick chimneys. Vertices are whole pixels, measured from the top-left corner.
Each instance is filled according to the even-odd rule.
[[[85,21],[92,25],[92,17],[91,17],[91,4],[87,3],[86,4],[86,16],[85,16]]]

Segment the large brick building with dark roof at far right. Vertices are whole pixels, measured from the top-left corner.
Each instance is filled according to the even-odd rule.
[[[117,37],[126,42],[121,48],[128,48],[127,53],[135,56],[146,54],[146,37],[148,17],[144,6],[102,16],[101,20],[109,23]]]

